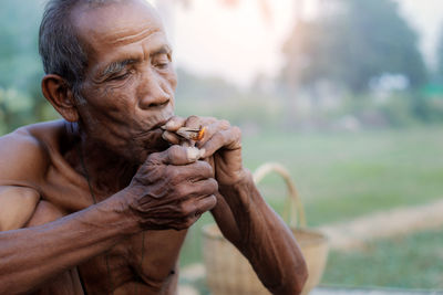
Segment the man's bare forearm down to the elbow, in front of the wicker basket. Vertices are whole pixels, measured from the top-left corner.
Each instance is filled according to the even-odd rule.
[[[250,173],[235,185],[219,186],[219,192],[226,204],[219,207],[223,201],[218,201],[212,212],[226,239],[249,260],[272,294],[300,293],[307,280],[300,249],[288,226],[261,198]]]

